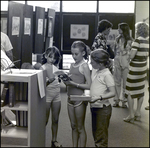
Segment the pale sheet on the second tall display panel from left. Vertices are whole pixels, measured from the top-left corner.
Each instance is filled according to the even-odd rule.
[[[24,34],[31,34],[31,18],[24,18]]]

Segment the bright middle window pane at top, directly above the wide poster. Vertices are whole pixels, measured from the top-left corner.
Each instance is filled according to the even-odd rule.
[[[96,5],[97,1],[62,1],[62,11],[96,13]]]

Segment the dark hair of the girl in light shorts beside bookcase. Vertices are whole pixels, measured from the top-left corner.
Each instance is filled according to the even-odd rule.
[[[43,53],[42,64],[45,64],[47,62],[47,59],[45,58],[45,56],[51,57],[52,55],[54,55],[54,59],[55,59],[55,62],[53,64],[55,66],[58,66],[60,59],[61,59],[61,54],[60,54],[59,49],[55,46],[48,47],[46,51]]]

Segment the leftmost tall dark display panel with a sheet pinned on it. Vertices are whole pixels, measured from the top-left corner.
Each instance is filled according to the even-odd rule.
[[[8,2],[8,36],[13,46],[13,60],[20,60],[15,66],[21,68],[21,42],[23,30],[23,7],[24,4]]]

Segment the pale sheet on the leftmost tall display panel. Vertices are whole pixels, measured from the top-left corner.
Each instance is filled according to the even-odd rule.
[[[20,17],[12,17],[12,35],[19,35]]]

